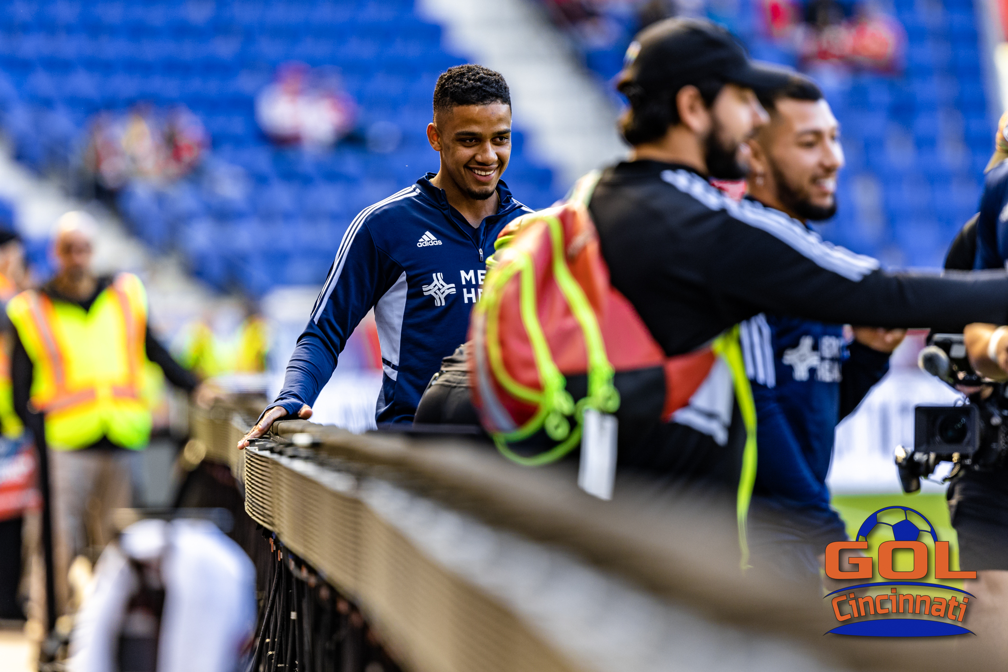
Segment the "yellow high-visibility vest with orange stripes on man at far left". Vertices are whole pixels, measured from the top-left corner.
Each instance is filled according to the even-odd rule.
[[[139,278],[119,274],[89,311],[29,290],[10,300],[7,314],[34,367],[31,404],[45,414],[49,448],[84,448],[103,436],[125,448],[146,446],[147,294]]]

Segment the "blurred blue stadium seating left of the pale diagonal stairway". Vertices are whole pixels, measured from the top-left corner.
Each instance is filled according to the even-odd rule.
[[[0,127],[19,161],[73,184],[97,113],[184,105],[210,134],[201,167],[172,184],[134,180],[116,205],[153,251],[179,253],[217,289],[257,297],[275,285],[320,283],[358,212],[437,169],[424,133],[430,96],[438,74],[463,62],[440,41],[440,27],[404,0],[18,0],[0,7]],[[337,66],[361,127],[394,124],[398,146],[271,144],[254,97],[291,60]],[[506,181],[542,208],[559,194],[523,144],[518,131]],[[237,188],[222,193],[221,174]],[[42,275],[45,250],[44,241],[29,249]]]

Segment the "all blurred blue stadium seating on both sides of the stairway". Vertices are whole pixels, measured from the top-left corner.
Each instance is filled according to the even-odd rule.
[[[585,62],[609,88],[637,26],[631,3],[604,6],[620,34],[606,48],[587,48]],[[758,57],[794,64],[767,36],[760,3],[711,2],[706,11]],[[976,210],[991,149],[976,18],[971,0],[898,0],[892,11],[907,36],[902,72],[826,82],[848,168],[840,213],[823,231],[889,265],[936,266]],[[390,122],[398,146],[374,152],[343,142],[308,152],[271,144],[254,97],[290,60],[338,68],[360,127]],[[178,253],[214,288],[261,296],[276,285],[319,283],[356,213],[436,169],[423,134],[430,92],[458,62],[442,47],[442,28],[408,0],[16,0],[0,8],[0,128],[18,160],[73,184],[97,113],[184,105],[210,134],[200,169],[172,184],[136,180],[119,191],[118,210],[153,252]],[[556,180],[523,145],[518,131],[506,180],[542,208],[559,195]],[[220,174],[238,187],[222,193]],[[44,275],[44,241],[29,252]]]

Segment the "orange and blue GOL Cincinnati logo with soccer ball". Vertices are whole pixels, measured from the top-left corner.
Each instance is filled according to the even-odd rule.
[[[869,537],[878,543],[877,558],[847,558],[841,551],[866,551]],[[923,541],[921,541],[923,538]],[[925,543],[930,539],[932,546]],[[933,562],[931,559],[933,558]],[[826,595],[840,624],[831,633],[860,637],[946,637],[972,631],[963,623],[974,595],[952,585],[919,579],[976,578],[975,571],[949,568],[949,542],[938,541],[934,526],[907,507],[885,507],[865,519],[857,541],[835,541],[826,547],[827,576],[839,580],[882,580],[850,585]],[[905,592],[903,592],[905,590]]]

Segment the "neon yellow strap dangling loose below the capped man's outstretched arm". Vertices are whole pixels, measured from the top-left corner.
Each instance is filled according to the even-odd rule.
[[[742,413],[742,421],[746,427],[746,447],[742,451],[742,471],[739,475],[739,491],[735,501],[735,514],[739,525],[739,549],[742,551],[742,569],[749,567],[749,539],[747,519],[749,503],[752,501],[753,486],[756,484],[756,402],[753,400],[753,390],[746,375],[745,360],[742,358],[742,346],[739,342],[739,325],[736,324],[715,339],[712,350],[723,358],[732,372],[732,383],[735,387],[735,399]]]

